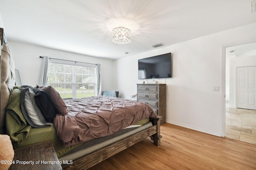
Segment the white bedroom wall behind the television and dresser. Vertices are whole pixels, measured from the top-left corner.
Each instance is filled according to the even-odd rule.
[[[225,47],[256,42],[256,23],[162,47],[114,61],[116,89],[123,98],[136,93],[138,59],[172,53],[172,78],[167,84],[166,121],[223,136]],[[171,33],[171,32],[170,32]],[[164,43],[164,42],[163,42]],[[220,86],[219,92],[213,86]]]

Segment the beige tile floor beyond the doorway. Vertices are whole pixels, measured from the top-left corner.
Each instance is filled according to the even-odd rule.
[[[226,137],[256,144],[256,110],[226,106]]]

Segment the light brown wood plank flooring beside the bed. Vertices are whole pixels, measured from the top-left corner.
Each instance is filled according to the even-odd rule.
[[[96,164],[90,170],[256,169],[256,145],[165,123],[161,145],[150,138]]]

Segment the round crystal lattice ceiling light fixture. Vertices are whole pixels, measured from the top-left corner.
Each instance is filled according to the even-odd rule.
[[[122,26],[112,29],[112,41],[119,44],[130,43],[131,30]]]

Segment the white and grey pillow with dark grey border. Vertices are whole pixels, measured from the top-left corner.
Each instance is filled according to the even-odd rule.
[[[20,107],[26,121],[32,127],[48,127],[50,123],[47,123],[42,115],[40,109],[36,106],[34,100],[35,93],[30,88],[20,88]],[[30,96],[31,94],[31,96]],[[33,100],[33,102],[32,102]],[[34,104],[34,105],[33,105]]]

